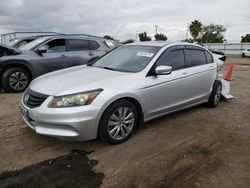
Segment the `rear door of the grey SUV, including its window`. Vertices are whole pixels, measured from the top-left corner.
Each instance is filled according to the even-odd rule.
[[[100,46],[97,42],[86,39],[69,39],[69,66],[83,65],[97,58],[97,51]]]

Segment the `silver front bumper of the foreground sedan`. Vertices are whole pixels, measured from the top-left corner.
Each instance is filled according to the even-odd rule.
[[[48,97],[41,106],[29,108],[21,100],[21,108],[27,111],[25,123],[36,133],[68,141],[84,141],[97,137],[98,113],[93,105],[71,108],[48,108],[53,97]]]

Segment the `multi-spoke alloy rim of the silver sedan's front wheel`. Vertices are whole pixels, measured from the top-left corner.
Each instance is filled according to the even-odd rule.
[[[126,138],[135,123],[134,113],[128,107],[118,108],[109,118],[108,133],[115,140]]]

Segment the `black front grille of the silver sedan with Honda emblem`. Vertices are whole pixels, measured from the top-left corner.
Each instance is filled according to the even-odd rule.
[[[49,96],[27,89],[23,96],[23,102],[30,108],[39,107]]]

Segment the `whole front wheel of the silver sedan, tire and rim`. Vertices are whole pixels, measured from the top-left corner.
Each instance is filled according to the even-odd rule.
[[[135,105],[128,100],[119,100],[103,113],[98,135],[110,144],[120,144],[131,137],[137,125],[138,110]]]

